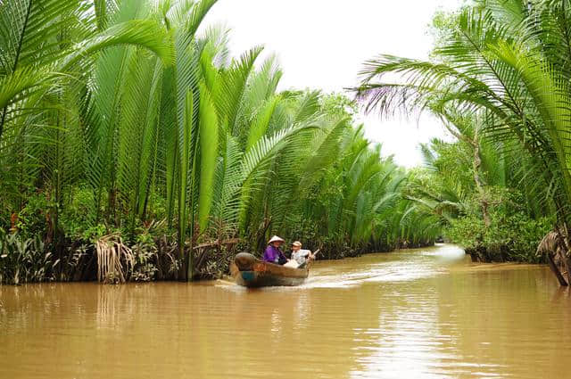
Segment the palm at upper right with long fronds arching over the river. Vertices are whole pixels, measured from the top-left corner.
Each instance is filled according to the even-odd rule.
[[[475,149],[481,145],[473,144],[476,139],[489,139],[489,146],[518,149],[525,161],[533,161],[534,171],[547,175],[543,183],[553,188],[558,226],[565,229],[571,217],[568,5],[477,2],[444,33],[434,50],[436,61],[383,55],[367,62],[358,96],[369,110],[385,114],[428,110],[458,127],[459,119],[450,117],[453,110],[460,119],[477,120],[476,128],[459,138]],[[402,81],[384,82],[388,73],[399,74]],[[481,169],[481,152],[474,156]]]

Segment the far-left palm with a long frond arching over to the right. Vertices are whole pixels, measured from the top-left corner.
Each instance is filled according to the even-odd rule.
[[[79,104],[94,57],[113,46],[137,45],[171,60],[166,32],[151,20],[118,21],[95,28],[91,5],[80,1],[0,4],[0,180],[17,212],[37,176],[53,193],[52,219],[62,207],[63,187],[77,177],[81,154]]]

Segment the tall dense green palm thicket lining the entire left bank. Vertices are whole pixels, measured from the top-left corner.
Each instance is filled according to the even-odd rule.
[[[215,3],[0,4],[2,283],[218,276],[274,233],[328,258],[434,242],[354,105],[231,59]]]

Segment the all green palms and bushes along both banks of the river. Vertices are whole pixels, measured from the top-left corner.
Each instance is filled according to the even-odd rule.
[[[478,261],[546,251],[571,282],[571,4],[467,2],[434,17],[430,61],[366,63],[369,111],[455,137],[406,171],[356,103],[278,91],[259,46],[232,58],[201,27],[215,3],[0,4],[0,282],[215,277],[273,234],[329,259],[441,235]]]

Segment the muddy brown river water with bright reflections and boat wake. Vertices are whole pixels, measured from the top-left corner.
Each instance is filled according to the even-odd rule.
[[[0,286],[0,378],[569,377],[549,268],[458,248],[318,262],[298,288]]]

